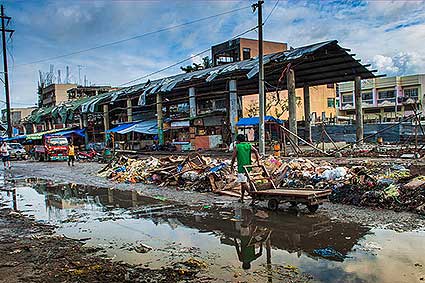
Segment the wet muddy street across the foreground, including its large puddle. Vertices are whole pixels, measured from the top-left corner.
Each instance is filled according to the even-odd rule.
[[[96,176],[101,167],[14,163],[2,187],[16,190],[17,211],[10,210],[13,192],[2,191],[2,243],[31,237],[59,250],[84,244],[90,254],[68,253],[69,263],[62,265],[51,252],[34,251],[35,242],[20,240],[2,245],[1,278],[37,278],[36,263],[18,264],[18,255],[30,252],[47,264],[45,272],[71,282],[101,282],[108,274],[102,269],[132,270],[112,272],[109,282],[173,282],[172,274],[182,270],[188,270],[182,280],[198,282],[416,282],[424,276],[417,247],[425,241],[425,220],[419,215],[332,203],[316,214],[289,207],[271,212],[261,205],[253,210],[212,193],[112,183]],[[22,220],[12,224],[11,217]]]

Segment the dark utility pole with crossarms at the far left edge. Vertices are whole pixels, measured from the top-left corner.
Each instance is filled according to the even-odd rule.
[[[3,5],[1,5],[0,17],[1,17],[1,39],[3,43],[3,71],[4,71],[4,89],[6,94],[7,136],[10,138],[12,137],[12,121],[10,117],[10,93],[9,93],[9,74],[7,70],[6,32],[10,32],[10,34],[12,35],[14,30],[6,29],[4,20],[6,19],[9,22],[11,17],[5,16]]]

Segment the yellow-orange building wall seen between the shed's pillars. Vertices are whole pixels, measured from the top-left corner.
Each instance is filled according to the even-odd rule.
[[[297,121],[305,121],[304,117],[304,96],[303,89],[295,90],[297,97]],[[279,100],[276,92],[267,93],[266,115],[287,120],[288,112],[288,91],[279,91]],[[319,85],[310,87],[310,107],[311,121],[320,122],[333,119],[336,116],[336,88],[334,84]],[[242,97],[243,117],[258,116],[258,94]]]

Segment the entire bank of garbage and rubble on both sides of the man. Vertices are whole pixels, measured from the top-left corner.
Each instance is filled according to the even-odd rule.
[[[331,189],[334,203],[367,206],[425,215],[425,176],[403,165],[370,160],[336,165],[330,161],[268,157],[263,164],[278,188]],[[187,157],[121,157],[99,172],[117,182],[175,186],[178,190],[240,196],[229,160],[191,154]],[[417,170],[414,170],[416,173]]]

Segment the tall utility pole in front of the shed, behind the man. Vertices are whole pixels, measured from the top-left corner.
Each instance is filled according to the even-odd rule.
[[[264,65],[263,65],[263,4],[264,1],[259,0],[252,8],[258,9],[258,100],[260,121],[258,123],[258,139],[260,155],[265,155],[265,129],[264,116],[266,115],[266,98],[264,94]]]

